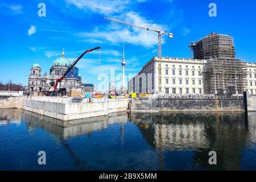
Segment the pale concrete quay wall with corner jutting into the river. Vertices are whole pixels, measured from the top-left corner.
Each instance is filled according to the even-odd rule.
[[[47,99],[47,101],[43,101],[42,98],[38,100],[36,100],[36,98],[23,100],[23,109],[62,121],[69,121],[127,111],[128,105],[126,98],[93,100],[92,102],[78,103],[65,101],[53,102],[51,98]],[[54,100],[54,98],[52,99]]]

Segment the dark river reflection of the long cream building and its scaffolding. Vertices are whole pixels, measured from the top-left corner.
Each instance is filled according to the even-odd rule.
[[[205,169],[240,169],[243,148],[255,145],[255,113],[248,121],[244,113],[131,113],[130,119],[160,153],[196,151],[193,161]],[[208,163],[212,150],[217,166]]]

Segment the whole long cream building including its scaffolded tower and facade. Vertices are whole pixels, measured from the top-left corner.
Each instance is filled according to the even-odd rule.
[[[256,94],[256,64],[236,59],[231,36],[212,33],[189,47],[194,59],[163,57],[162,94]],[[129,92],[159,93],[158,57],[129,80]]]

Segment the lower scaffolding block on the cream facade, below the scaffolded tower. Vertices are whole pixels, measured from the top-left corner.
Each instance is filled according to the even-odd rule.
[[[209,60],[203,71],[205,94],[242,94],[247,68],[242,60]]]

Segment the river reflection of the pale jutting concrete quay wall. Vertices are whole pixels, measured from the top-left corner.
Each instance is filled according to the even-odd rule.
[[[126,123],[128,118],[126,113],[121,112],[102,117],[59,121],[58,119],[24,110],[22,119],[27,122],[28,127],[41,127],[65,139],[80,134],[90,135],[93,131],[106,129],[109,125],[114,123]]]

